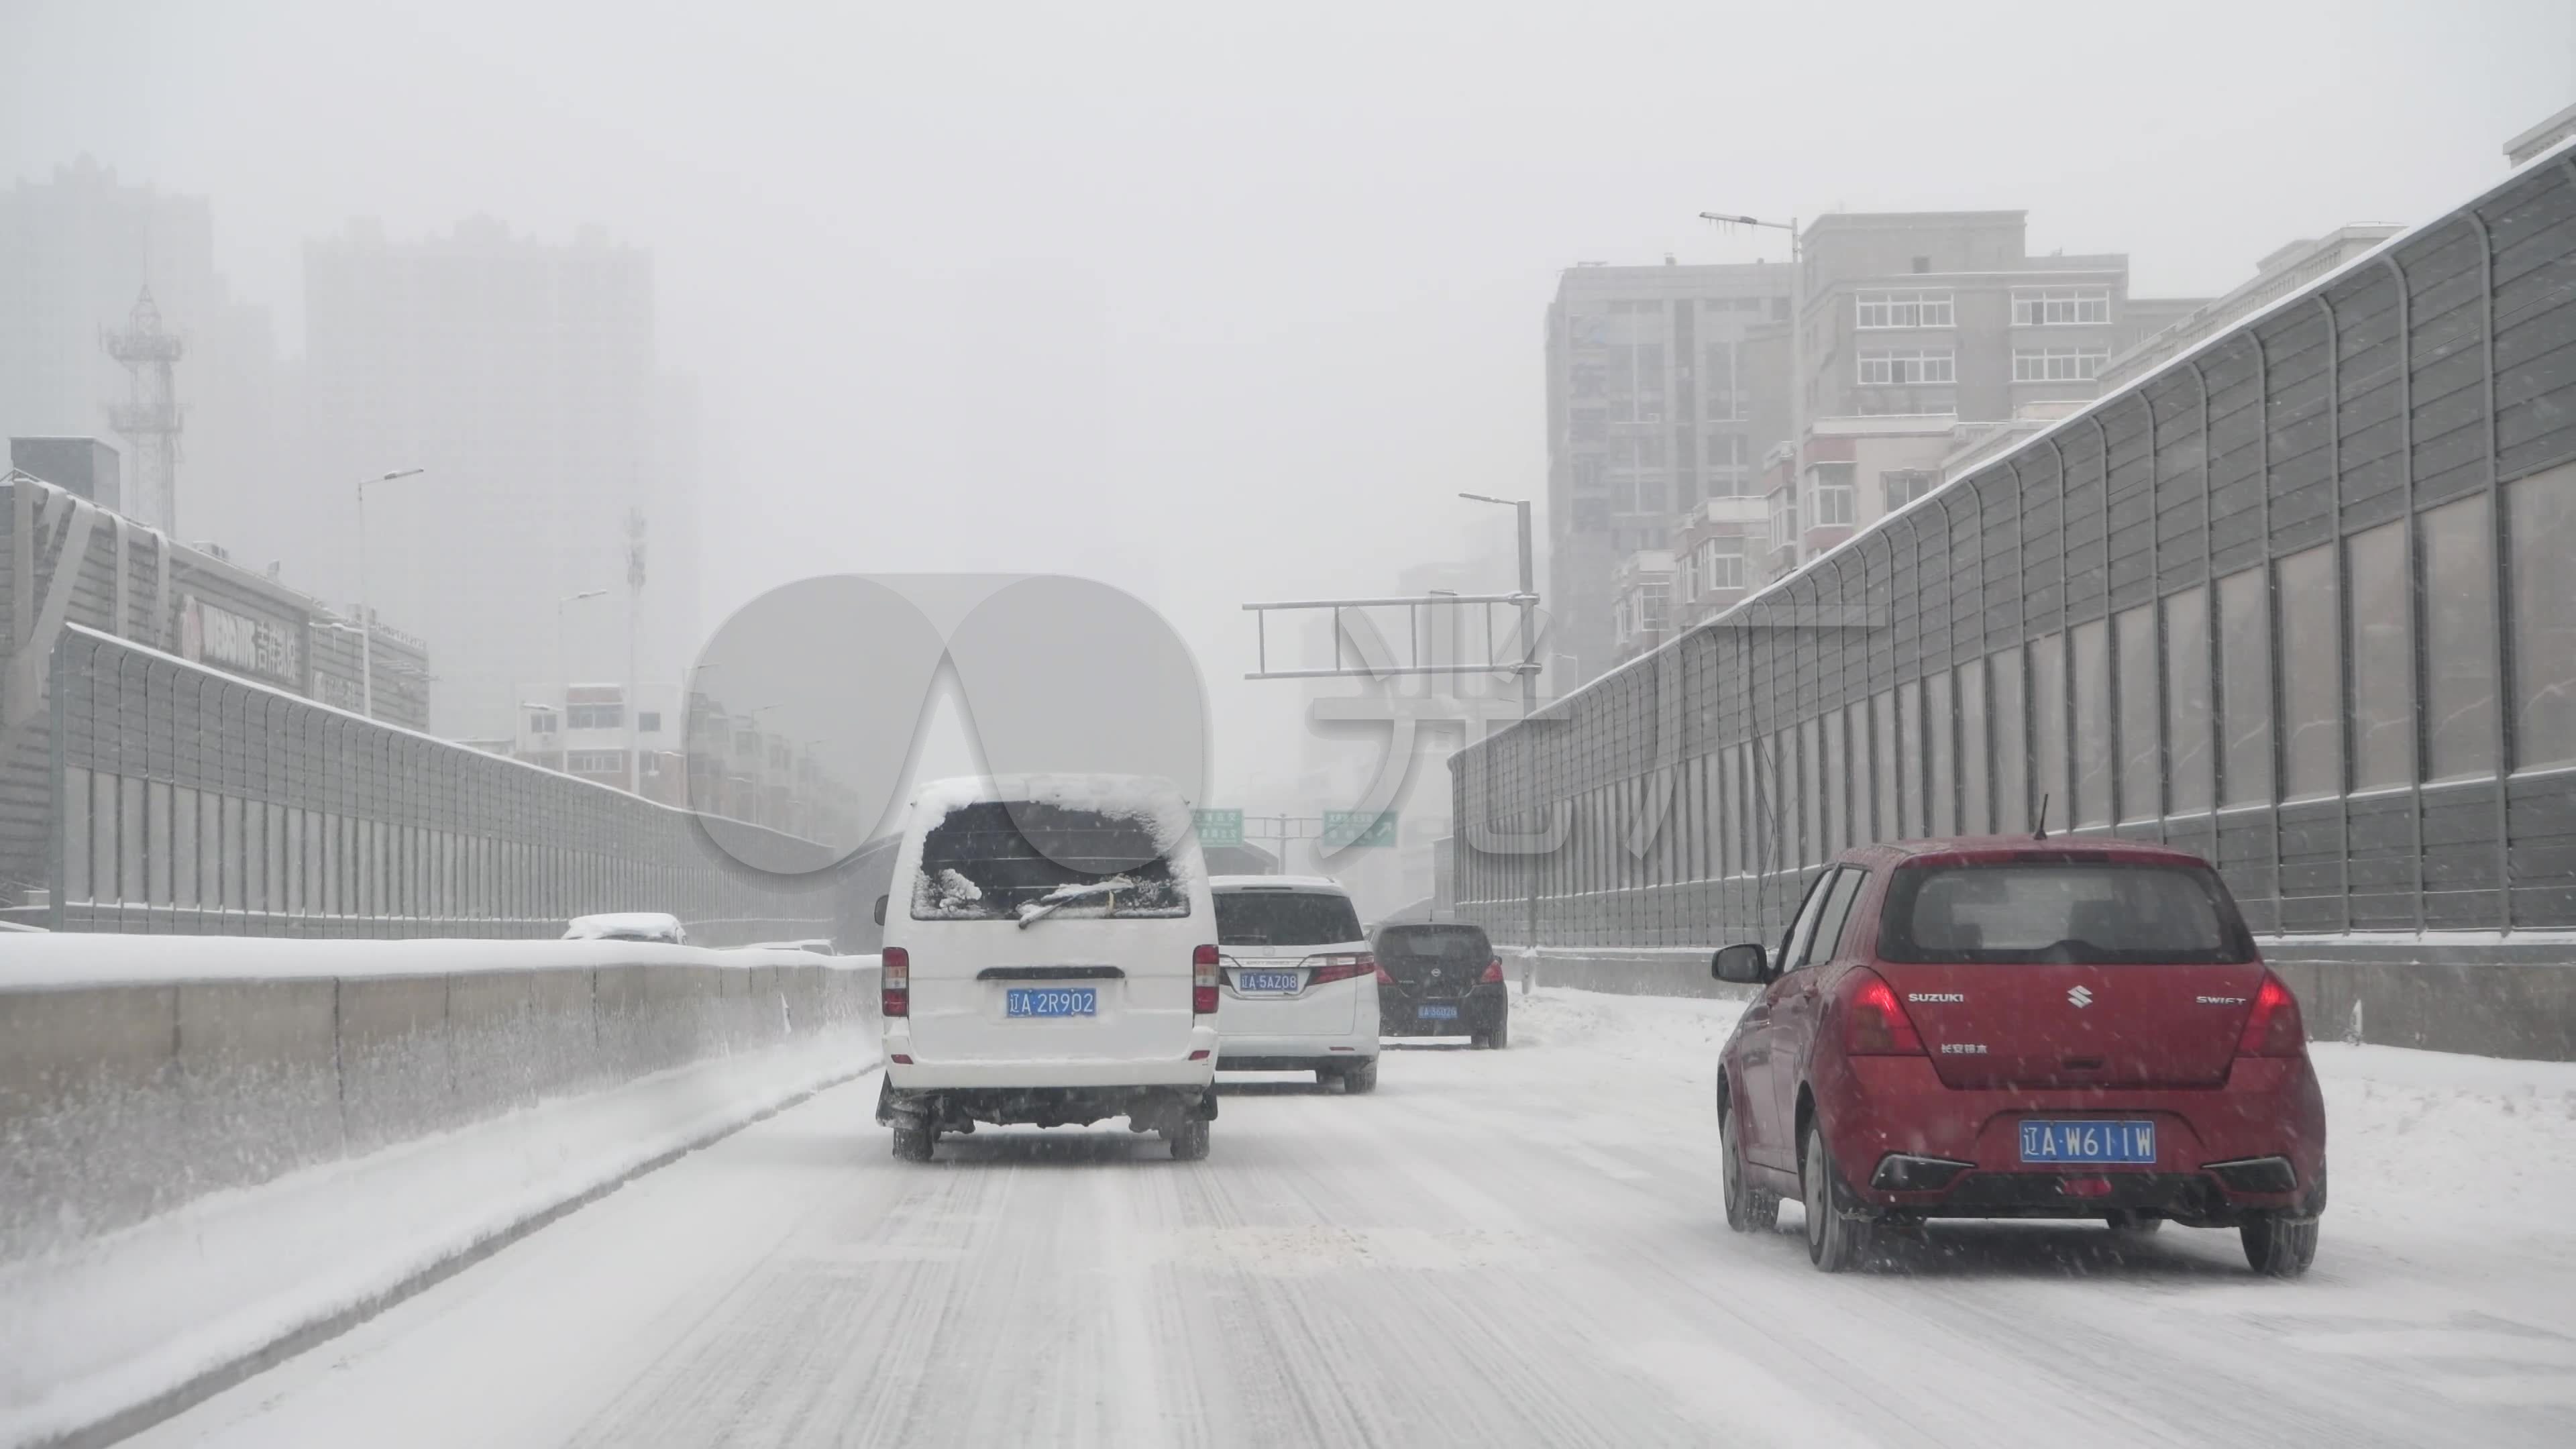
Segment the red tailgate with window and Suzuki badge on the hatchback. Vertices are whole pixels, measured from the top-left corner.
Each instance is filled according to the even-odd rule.
[[[1906,866],[1873,964],[1955,1088],[2221,1085],[2262,959],[2208,866]]]

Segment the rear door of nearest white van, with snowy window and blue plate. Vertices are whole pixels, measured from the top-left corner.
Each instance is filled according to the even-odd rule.
[[[1198,879],[1190,841],[1154,846],[1146,820],[1115,810],[951,807],[922,830],[904,900],[914,1052],[1185,1057],[1190,954],[1211,931],[1193,918]]]

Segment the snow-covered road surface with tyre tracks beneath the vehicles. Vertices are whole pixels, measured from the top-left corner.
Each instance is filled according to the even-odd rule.
[[[876,1080],[641,1178],[139,1444],[2576,1444],[2576,1065],[2316,1049],[2303,1281],[2233,1232],[1718,1212],[1731,1003],[1540,993],[1376,1096],[1231,1085],[889,1158]]]

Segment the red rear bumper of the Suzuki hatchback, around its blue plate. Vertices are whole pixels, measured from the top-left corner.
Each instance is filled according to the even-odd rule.
[[[1844,1057],[1816,1109],[1842,1181],[1888,1212],[2228,1222],[2326,1207],[2326,1104],[2306,1057],[2239,1057],[2215,1088],[1996,1091],[1947,1088],[1929,1057]],[[2156,1160],[2030,1165],[2025,1119],[2154,1122]]]

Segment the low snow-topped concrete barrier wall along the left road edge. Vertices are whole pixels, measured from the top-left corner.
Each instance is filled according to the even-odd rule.
[[[5,936],[0,1261],[708,1057],[832,1031],[873,1047],[873,967],[613,941]]]

